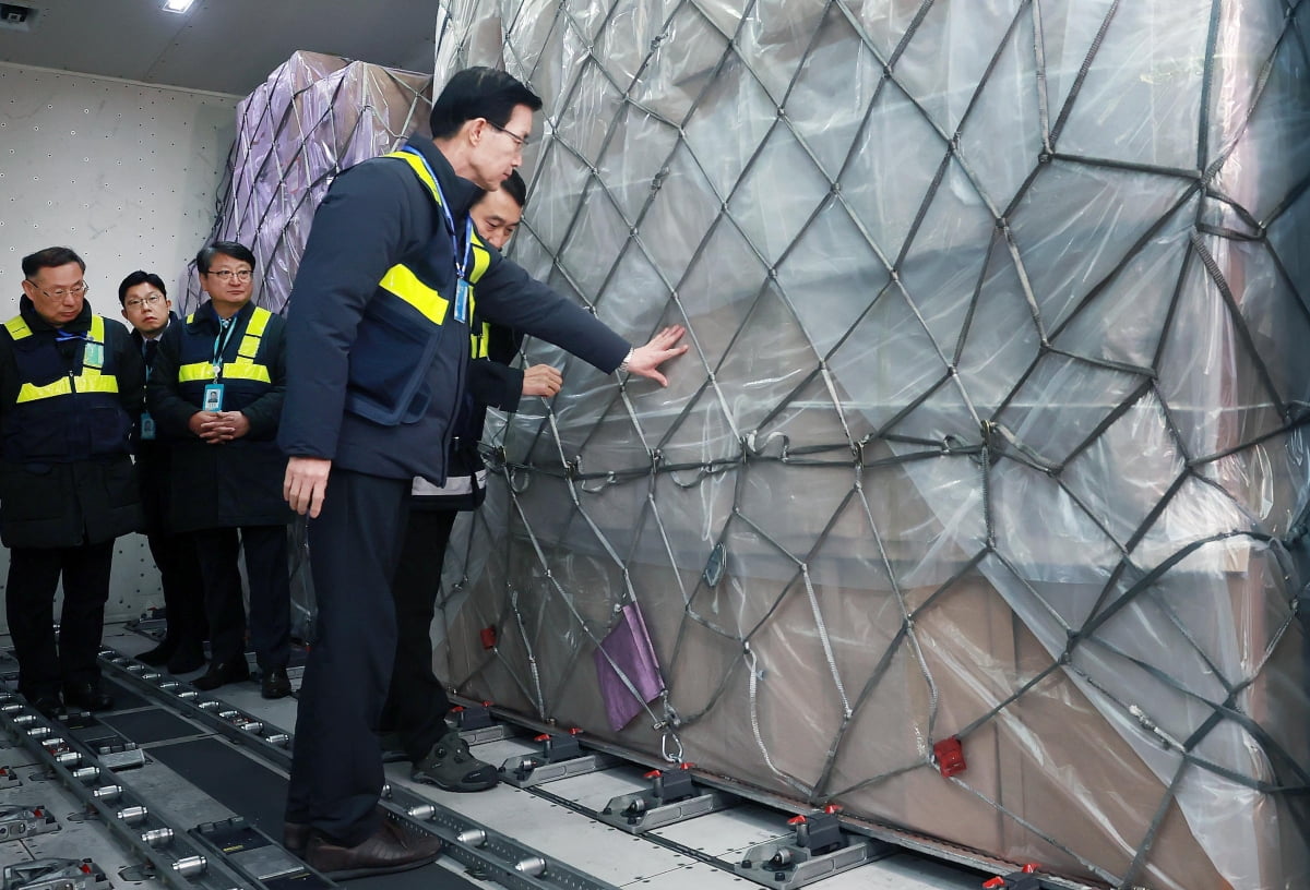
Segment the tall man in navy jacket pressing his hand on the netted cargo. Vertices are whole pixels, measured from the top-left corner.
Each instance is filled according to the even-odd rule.
[[[665,383],[679,326],[631,347],[474,233],[468,209],[523,161],[541,107],[504,72],[455,75],[432,140],[337,178],[314,216],[291,294],[284,495],[308,513],[318,624],[296,719],[288,848],[331,877],[414,868],[440,842],[377,810],[375,729],[396,648],[390,581],[414,476],[445,479],[474,302],[491,322],[600,370]]]

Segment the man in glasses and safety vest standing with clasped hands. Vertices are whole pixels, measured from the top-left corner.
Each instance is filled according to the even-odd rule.
[[[237,555],[250,584],[250,643],[266,699],[291,695],[291,578],[278,419],[287,387],[284,327],[252,302],[254,254],[216,241],[195,257],[208,301],[160,340],[147,387],[156,429],[173,448],[169,524],[191,534],[204,576],[210,668],[191,685],[249,679]]]

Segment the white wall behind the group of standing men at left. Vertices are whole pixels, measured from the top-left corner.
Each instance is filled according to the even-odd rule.
[[[0,318],[21,259],[67,245],[92,306],[119,317],[118,283],[159,272],[170,291],[214,224],[238,97],[0,63]],[[0,581],[8,573],[0,550]],[[119,541],[106,618],[162,605],[145,539]],[[3,618],[3,616],[0,616]]]

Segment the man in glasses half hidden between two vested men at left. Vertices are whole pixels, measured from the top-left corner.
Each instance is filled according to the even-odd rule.
[[[164,330],[177,321],[164,279],[138,270],[118,285],[123,318],[132,326],[132,343],[145,360],[149,380]],[[145,509],[145,541],[160,571],[168,631],[164,640],[136,656],[147,665],[168,666],[185,674],[204,666],[204,580],[190,535],[177,534],[168,522],[169,463],[172,449],[160,441],[155,418],[143,411],[136,423],[136,476]]]

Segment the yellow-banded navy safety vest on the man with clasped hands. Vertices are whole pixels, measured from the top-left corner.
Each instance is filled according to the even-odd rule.
[[[246,304],[232,317],[224,331],[212,305],[186,317],[179,342],[177,390],[187,402],[200,406],[204,387],[223,385],[223,410],[240,411],[272,387],[265,334],[274,314]],[[217,351],[217,355],[216,355]]]

